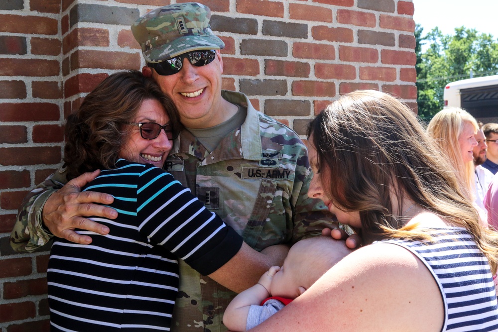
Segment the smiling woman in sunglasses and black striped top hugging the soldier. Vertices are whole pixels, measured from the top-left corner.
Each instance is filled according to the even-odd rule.
[[[93,218],[107,235],[78,230],[92,237],[89,245],[54,241],[51,331],[169,330],[178,259],[216,280],[248,252],[235,230],[162,170],[177,132],[176,108],[137,71],[109,76],[68,117],[67,178],[102,170],[84,191],[113,195],[118,218]]]

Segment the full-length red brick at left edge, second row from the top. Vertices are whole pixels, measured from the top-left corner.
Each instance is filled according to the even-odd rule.
[[[56,35],[55,18],[40,16],[0,15],[0,32]]]

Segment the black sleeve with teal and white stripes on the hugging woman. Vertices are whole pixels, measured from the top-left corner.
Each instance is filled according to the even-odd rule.
[[[208,275],[241,248],[242,236],[184,188],[173,176],[147,165],[137,186],[139,232],[151,244],[177,255]]]

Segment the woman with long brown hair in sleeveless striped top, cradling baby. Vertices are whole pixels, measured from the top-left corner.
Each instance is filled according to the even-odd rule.
[[[308,133],[308,195],[367,245],[250,331],[498,331],[498,233],[480,224],[416,115],[356,91]]]

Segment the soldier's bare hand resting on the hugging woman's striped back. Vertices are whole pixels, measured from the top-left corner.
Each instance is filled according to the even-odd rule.
[[[102,235],[109,233],[109,227],[84,217],[98,216],[107,219],[118,217],[116,210],[103,205],[113,203],[112,195],[96,192],[81,192],[81,188],[100,174],[97,170],[84,173],[69,181],[64,187],[50,195],[42,211],[44,225],[57,237],[69,241],[89,244],[92,238],[80,235],[75,228],[90,230]]]

